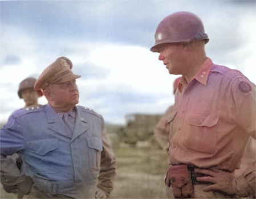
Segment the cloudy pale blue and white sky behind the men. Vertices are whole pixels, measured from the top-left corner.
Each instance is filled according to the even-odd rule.
[[[174,103],[173,81],[155,44],[157,25],[176,11],[204,23],[213,63],[256,84],[255,1],[0,1],[0,122],[25,105],[19,83],[58,57],[73,63],[79,105],[125,124],[125,115],[163,114]],[[46,104],[43,97],[40,104]]]

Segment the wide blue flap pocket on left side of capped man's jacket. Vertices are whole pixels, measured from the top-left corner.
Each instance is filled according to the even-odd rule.
[[[27,142],[27,164],[35,173],[60,172],[58,139]]]

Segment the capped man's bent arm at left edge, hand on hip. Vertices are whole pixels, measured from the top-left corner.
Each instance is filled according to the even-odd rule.
[[[7,192],[27,194],[31,189],[32,179],[23,175],[17,165],[21,157],[15,153],[23,150],[25,143],[22,133],[17,130],[21,129],[18,124],[12,114],[1,129],[1,183]]]

